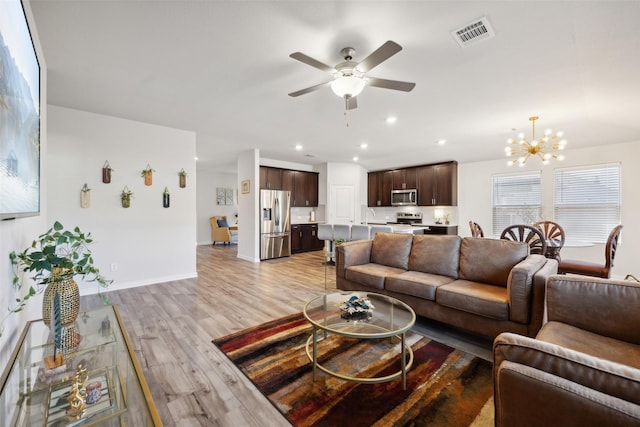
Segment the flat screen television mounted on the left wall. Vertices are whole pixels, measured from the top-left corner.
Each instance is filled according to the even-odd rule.
[[[0,220],[40,214],[40,64],[20,0],[0,1]]]

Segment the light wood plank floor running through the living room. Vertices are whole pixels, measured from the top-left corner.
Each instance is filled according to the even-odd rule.
[[[198,278],[109,293],[165,426],[289,426],[211,340],[287,314],[335,289],[335,267],[309,252],[261,263],[237,247],[197,249]],[[100,305],[82,298],[82,308]],[[490,359],[491,342],[425,319],[415,330]]]

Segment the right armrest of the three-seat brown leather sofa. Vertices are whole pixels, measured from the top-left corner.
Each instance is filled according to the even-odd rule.
[[[534,275],[547,263],[542,255],[529,255],[516,264],[507,279],[509,320],[528,324],[531,319]]]

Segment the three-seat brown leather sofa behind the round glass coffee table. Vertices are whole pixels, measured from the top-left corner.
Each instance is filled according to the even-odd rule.
[[[522,242],[378,233],[337,247],[336,286],[386,294],[416,314],[491,338],[535,336],[558,263]]]

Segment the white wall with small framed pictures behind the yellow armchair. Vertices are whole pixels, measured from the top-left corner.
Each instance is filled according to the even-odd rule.
[[[218,205],[216,199],[217,188],[233,188],[233,205]],[[226,215],[229,224],[236,221],[235,214],[238,213],[238,174],[220,173],[215,169],[198,165],[198,192],[197,192],[197,212],[198,212],[198,244],[210,245],[211,224],[209,218],[212,216]]]

